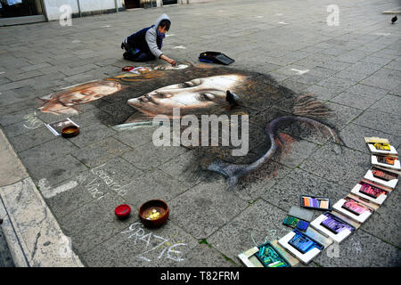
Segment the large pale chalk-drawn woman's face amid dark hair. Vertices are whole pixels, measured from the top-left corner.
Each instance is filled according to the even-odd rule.
[[[195,78],[130,99],[128,104],[136,110],[153,115],[170,115],[173,113],[173,108],[180,108],[182,114],[201,113],[225,102],[225,92],[233,89],[243,79],[244,76],[236,74]]]

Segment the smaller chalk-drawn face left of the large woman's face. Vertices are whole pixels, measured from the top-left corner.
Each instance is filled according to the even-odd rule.
[[[74,106],[86,102],[91,102],[113,94],[121,90],[121,85],[118,82],[102,82],[97,85],[83,85],[78,90],[61,94],[58,97],[59,102],[65,106]]]

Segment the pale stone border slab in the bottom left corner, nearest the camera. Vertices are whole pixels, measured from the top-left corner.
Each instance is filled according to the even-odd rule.
[[[68,248],[66,256],[61,256],[63,248],[60,243],[65,235],[50,209],[45,207],[45,201],[40,198],[30,178],[4,186],[0,191],[4,207],[7,208],[13,227],[16,228],[20,247],[23,248],[29,265],[82,266],[79,257],[71,251],[69,253]]]

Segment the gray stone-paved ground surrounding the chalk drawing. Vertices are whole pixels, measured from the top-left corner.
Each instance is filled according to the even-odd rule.
[[[53,21],[0,28],[0,126],[38,190],[78,183],[44,198],[84,265],[242,266],[242,251],[290,231],[282,220],[299,194],[336,201],[354,187],[370,167],[364,136],[387,137],[401,151],[401,29],[381,14],[401,3],[336,1],[340,26],[331,27],[329,4],[222,0],[74,18],[71,27]],[[82,127],[78,137],[51,134],[45,123],[60,117],[37,111],[36,98],[119,74],[132,64],[122,58],[121,40],[164,12],[172,19],[163,46],[169,57],[197,61],[203,51],[221,51],[235,59],[230,68],[313,94],[333,110],[328,123],[339,131],[342,151],[322,136],[299,134],[288,159],[274,161],[274,177],[227,191],[223,177],[184,179],[192,151],[160,150],[148,129],[119,133],[103,124],[99,118],[119,115],[110,98],[70,117]],[[274,102],[272,110],[288,108]],[[119,195],[102,174],[131,191]],[[340,244],[339,257],[323,252],[309,266],[400,266],[400,187]],[[155,198],[171,209],[159,229],[143,228],[136,214],[123,222],[114,216],[121,203],[136,213]]]

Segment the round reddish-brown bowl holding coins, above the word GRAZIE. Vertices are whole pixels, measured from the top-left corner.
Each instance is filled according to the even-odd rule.
[[[159,214],[158,214],[159,213]],[[146,227],[158,227],[168,220],[168,204],[161,199],[151,199],[139,208],[139,218]]]

